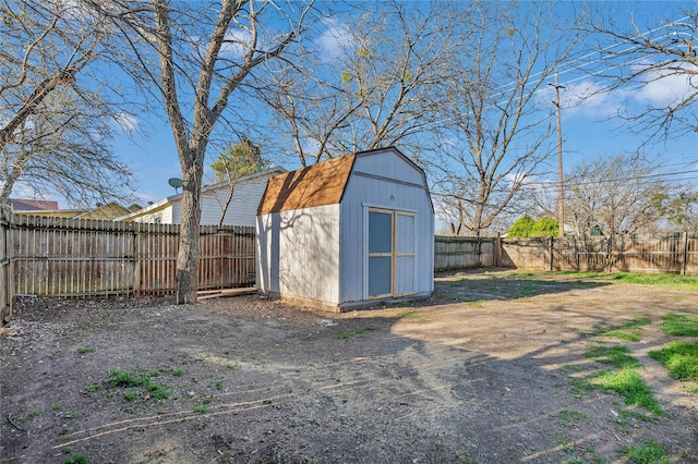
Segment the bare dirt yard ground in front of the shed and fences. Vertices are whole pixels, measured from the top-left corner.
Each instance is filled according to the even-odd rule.
[[[697,463],[698,394],[647,355],[666,313],[698,314],[698,295],[509,272],[344,315],[26,298],[0,335],[0,461],[623,463],[652,439]],[[640,342],[601,333],[638,317]],[[598,343],[631,349],[664,415],[579,388]]]

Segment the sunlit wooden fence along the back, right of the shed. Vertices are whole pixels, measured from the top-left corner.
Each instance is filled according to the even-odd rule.
[[[698,233],[563,239],[436,236],[435,270],[478,267],[698,274]]]

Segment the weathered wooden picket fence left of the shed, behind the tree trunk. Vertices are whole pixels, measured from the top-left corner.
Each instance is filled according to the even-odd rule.
[[[254,228],[202,227],[198,288],[254,285]],[[14,295],[165,295],[179,225],[0,216],[0,309]]]

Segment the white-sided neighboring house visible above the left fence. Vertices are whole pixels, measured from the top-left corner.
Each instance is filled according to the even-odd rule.
[[[254,217],[260,198],[269,178],[286,172],[274,167],[238,179],[233,184],[233,194],[226,210],[224,225],[254,225]],[[218,182],[202,188],[201,225],[217,225],[230,193],[230,184]],[[182,222],[182,194],[163,198],[137,211],[118,217],[117,221],[146,222],[158,224],[179,224]]]

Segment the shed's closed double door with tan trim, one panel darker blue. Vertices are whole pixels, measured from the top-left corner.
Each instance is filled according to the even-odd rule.
[[[370,298],[414,293],[414,215],[369,209]]]

